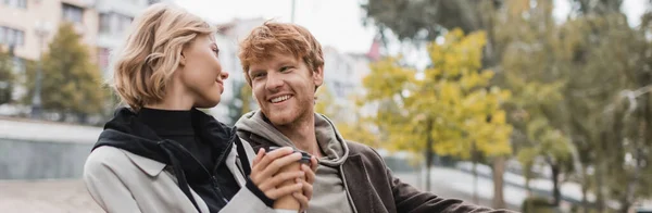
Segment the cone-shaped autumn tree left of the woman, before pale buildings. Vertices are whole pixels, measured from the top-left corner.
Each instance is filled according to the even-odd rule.
[[[60,25],[48,49],[42,58],[43,110],[60,113],[61,120],[67,113],[80,120],[101,113],[108,90],[101,87],[99,67],[90,61],[88,47],[71,23]],[[35,73],[34,65],[29,65],[25,85],[29,95],[34,95]],[[29,103],[30,98],[25,101]]]

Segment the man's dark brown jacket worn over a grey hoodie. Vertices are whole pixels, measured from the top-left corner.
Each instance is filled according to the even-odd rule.
[[[276,146],[253,134],[239,134],[239,136],[249,141],[254,150]],[[347,141],[347,146],[350,152],[349,158],[342,164],[341,178],[344,180],[344,187],[351,195],[355,211],[359,213],[511,212],[491,210],[419,191],[394,177],[374,149],[351,141]]]

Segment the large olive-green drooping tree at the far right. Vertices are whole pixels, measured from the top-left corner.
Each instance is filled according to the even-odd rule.
[[[522,15],[524,13],[529,15]],[[640,179],[644,174],[642,164],[627,165],[623,159],[631,154],[634,161],[645,161],[644,154],[636,152],[645,152],[649,145],[645,135],[649,130],[644,130],[649,106],[643,103],[647,101],[642,95],[632,97],[635,102],[643,104],[637,104],[630,112],[623,105],[626,102],[614,100],[623,100],[623,92],[640,93],[635,91],[650,83],[644,67],[650,58],[644,54],[650,51],[649,41],[628,27],[625,16],[613,9],[599,15],[570,18],[557,26],[552,22],[552,7],[539,2],[534,8],[502,13],[498,20],[504,26],[497,27],[496,35],[501,43],[498,49],[503,52],[500,64],[504,71],[498,84],[519,91],[514,96],[518,102],[512,112],[528,115],[511,121],[515,133],[526,136],[516,140],[523,148],[517,148],[523,151],[519,159],[527,165],[534,158],[544,158],[537,149],[568,147],[567,150],[547,148],[546,152],[566,161],[554,163],[563,167],[553,174],[562,171],[566,180],[581,183],[585,212],[589,206],[586,195],[590,191],[597,193],[599,210],[603,210],[606,199],[620,201],[622,211],[628,209],[636,200],[634,195],[644,196],[634,189],[647,187]],[[532,84],[538,85],[537,88],[526,87]],[[632,118],[626,118],[628,116]],[[532,130],[540,133],[539,137],[532,135]],[[546,142],[543,136],[556,133],[557,140],[567,140],[569,146],[561,146],[565,142],[546,146],[552,141]],[[627,142],[629,138],[637,138],[637,142]],[[564,167],[574,171],[563,172]],[[595,172],[590,174],[590,170]],[[559,181],[563,180],[553,180],[555,203],[560,199]],[[610,196],[604,191],[610,191],[606,192]]]

